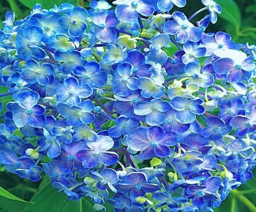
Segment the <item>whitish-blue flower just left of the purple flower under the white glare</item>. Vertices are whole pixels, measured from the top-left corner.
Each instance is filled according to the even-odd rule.
[[[214,83],[214,76],[208,72],[201,72],[200,65],[197,63],[189,63],[185,66],[184,72],[191,76],[186,84],[195,83],[201,88],[208,88]]]

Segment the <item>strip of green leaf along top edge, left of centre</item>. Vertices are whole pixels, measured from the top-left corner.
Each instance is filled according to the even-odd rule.
[[[59,6],[61,3],[70,3],[76,5],[78,3],[77,0],[19,0],[24,6],[29,7],[29,9],[33,9],[34,5],[39,3],[42,4],[42,8],[50,9],[53,7],[54,4]]]

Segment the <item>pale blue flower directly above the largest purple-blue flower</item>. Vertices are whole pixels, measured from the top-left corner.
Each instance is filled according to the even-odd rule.
[[[165,121],[165,112],[170,105],[162,99],[152,99],[150,102],[138,102],[135,105],[134,113],[138,116],[146,116],[146,123],[149,125],[160,125]]]

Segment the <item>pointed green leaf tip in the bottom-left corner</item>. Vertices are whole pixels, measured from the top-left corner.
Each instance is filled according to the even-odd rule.
[[[0,186],[0,211],[1,208],[5,211],[23,211],[26,207],[33,204],[34,202],[21,200]]]

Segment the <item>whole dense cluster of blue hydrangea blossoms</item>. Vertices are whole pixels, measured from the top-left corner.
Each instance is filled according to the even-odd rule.
[[[221,7],[201,1],[190,18],[170,14],[186,0],[36,4],[15,23],[7,12],[4,169],[31,181],[44,172],[97,211],[218,207],[255,167],[256,47],[207,33]]]

